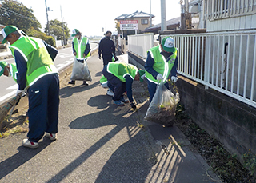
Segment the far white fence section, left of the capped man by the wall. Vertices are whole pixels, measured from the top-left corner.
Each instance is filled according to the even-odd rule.
[[[154,46],[154,34],[137,34],[128,36],[128,50],[146,58],[146,52]]]

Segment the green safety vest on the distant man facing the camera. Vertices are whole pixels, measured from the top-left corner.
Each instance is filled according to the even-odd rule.
[[[74,44],[74,50],[77,53],[75,56],[77,59],[83,59],[83,53],[86,50],[86,45],[88,43],[89,39],[86,37],[82,37],[81,42],[79,42],[78,38],[73,39],[73,44]],[[90,56],[90,52],[86,55],[85,58],[88,58]]]

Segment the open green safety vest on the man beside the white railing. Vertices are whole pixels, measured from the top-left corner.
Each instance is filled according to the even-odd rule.
[[[166,83],[166,79],[170,75],[170,70],[173,68],[175,59],[177,57],[177,48],[175,48],[175,51],[170,56],[170,58],[167,58],[168,62],[166,62],[166,58],[162,54],[160,54],[161,51],[162,50],[160,46],[154,46],[153,48],[148,50],[151,57],[154,59],[153,69],[159,74],[162,74],[163,82]],[[149,72],[146,71],[145,76],[150,82],[158,84],[159,81],[155,79]]]

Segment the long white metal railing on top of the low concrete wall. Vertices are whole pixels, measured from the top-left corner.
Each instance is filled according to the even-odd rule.
[[[178,74],[256,107],[255,30],[170,36],[178,47]],[[145,53],[134,45],[129,50],[146,58],[146,47],[139,50]]]

